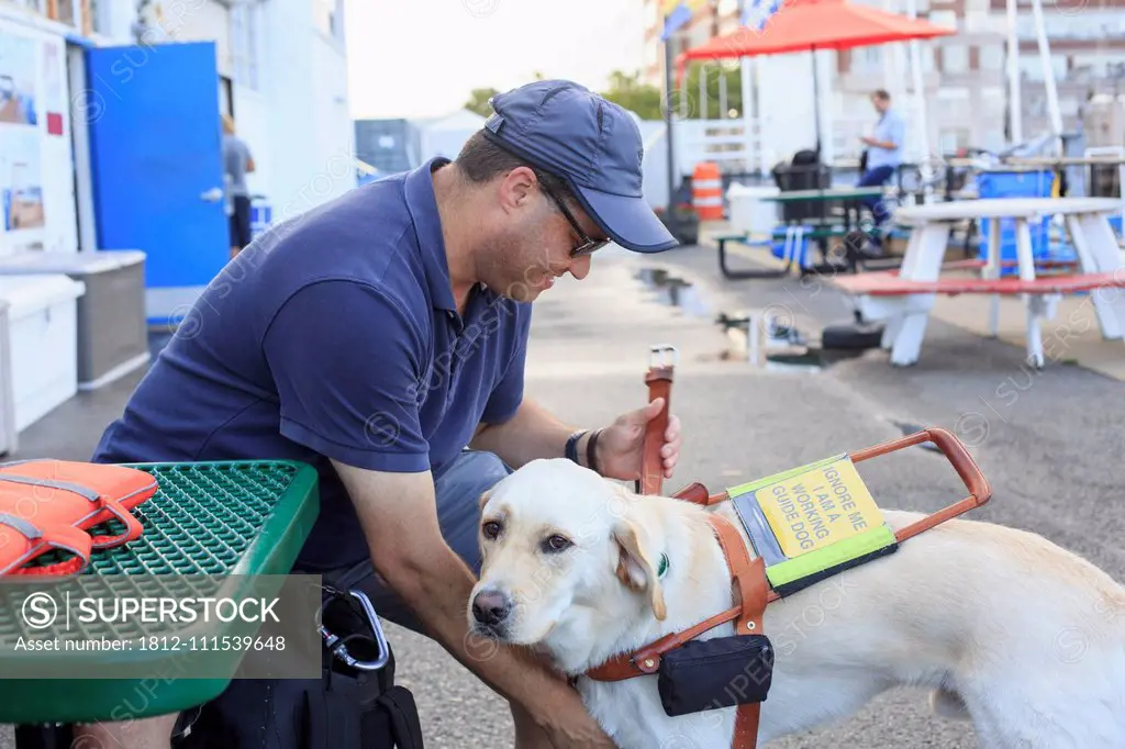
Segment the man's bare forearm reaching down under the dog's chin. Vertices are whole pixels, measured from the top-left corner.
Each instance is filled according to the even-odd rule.
[[[611,746],[559,676],[519,648],[469,652],[468,601],[476,578],[444,542],[429,471],[389,473],[333,461],[351,495],[379,575],[454,658],[531,715],[555,746]]]

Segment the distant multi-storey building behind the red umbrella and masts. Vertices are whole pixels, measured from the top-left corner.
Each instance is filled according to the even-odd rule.
[[[660,0],[638,0],[645,7],[645,58],[647,82],[664,82],[664,47]],[[747,0],[749,1],[749,0]],[[906,12],[904,2],[849,0]],[[673,40],[673,53],[735,30],[740,18],[739,0],[711,0]],[[1007,3],[1006,0],[917,0],[917,12],[956,35],[918,44],[930,157],[957,148],[999,150],[1007,133]],[[1086,102],[1097,96],[1125,92],[1125,0],[1059,0],[1044,2],[1046,38],[1055,76],[1064,132],[1079,129]],[[784,12],[784,11],[782,11]],[[1040,60],[1034,16],[1028,0],[1019,0],[1019,45],[1023,136],[1050,130],[1046,87]],[[811,89],[796,90],[809,79],[809,54],[777,55],[754,61],[757,114],[763,129],[792,130],[811,121]],[[868,130],[872,89],[885,88],[908,118],[911,109],[908,45],[883,45],[852,51],[820,52],[820,80],[831,91],[826,97],[825,119],[832,143],[826,147],[836,160],[858,156],[858,136]],[[827,75],[826,75],[827,74]],[[916,124],[916,123],[912,123]],[[808,136],[804,136],[806,139]],[[1118,134],[1116,143],[1122,143]],[[911,145],[911,144],[908,144]],[[915,138],[914,156],[919,141]],[[781,156],[781,154],[777,154]]]

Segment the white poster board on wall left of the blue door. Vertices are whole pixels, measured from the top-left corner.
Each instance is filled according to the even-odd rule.
[[[78,251],[65,40],[0,15],[0,254]]]

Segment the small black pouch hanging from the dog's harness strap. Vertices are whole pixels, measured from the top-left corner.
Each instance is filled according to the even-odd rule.
[[[765,702],[774,651],[764,634],[692,640],[660,657],[657,687],[669,716]]]

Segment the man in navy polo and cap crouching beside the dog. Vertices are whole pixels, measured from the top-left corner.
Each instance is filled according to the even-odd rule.
[[[359,586],[382,616],[434,638],[508,698],[518,747],[612,747],[531,656],[467,651],[478,499],[536,458],[639,476],[663,403],[580,431],[525,398],[530,303],[566,272],[585,278],[611,240],[638,252],[676,241],[642,198],[640,133],[623,109],[566,81],[493,107],[453,163],[352,190],[240,253],[96,459],[314,463],[322,511],[298,571]],[[670,478],[677,417],[664,440]],[[151,749],[168,746],[173,720],[89,731]]]

